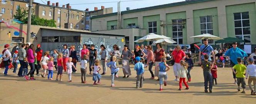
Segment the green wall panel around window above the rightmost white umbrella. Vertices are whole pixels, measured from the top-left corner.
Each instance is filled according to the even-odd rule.
[[[193,11],[193,21],[194,21],[194,36],[200,35],[200,16],[212,16],[212,27],[213,35],[219,36],[219,25],[218,25],[218,12],[217,8],[206,8],[201,10]],[[189,33],[190,34],[190,33]],[[195,38],[195,42],[201,42],[200,39]]]

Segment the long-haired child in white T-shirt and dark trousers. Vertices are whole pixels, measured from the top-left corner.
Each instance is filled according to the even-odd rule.
[[[86,69],[87,69],[87,55],[83,56],[83,59],[81,60],[81,83],[87,83],[86,82]],[[84,79],[83,79],[84,78]]]

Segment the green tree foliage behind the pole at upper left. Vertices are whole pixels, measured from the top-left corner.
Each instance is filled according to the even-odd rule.
[[[16,11],[16,14],[14,15],[14,18],[27,24],[28,21],[28,14],[29,10],[25,10],[24,8],[18,8]],[[44,18],[39,18],[38,16],[34,15],[34,9],[32,10],[31,15],[31,24],[32,25],[39,25],[39,26],[48,26],[48,27],[56,27],[56,21],[54,20],[47,20]]]

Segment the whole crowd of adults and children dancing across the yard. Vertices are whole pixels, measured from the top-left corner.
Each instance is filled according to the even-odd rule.
[[[202,46],[199,49],[199,64],[203,69],[204,75],[204,88],[205,93],[212,93],[212,86],[217,85],[217,63],[222,63],[224,68],[225,62],[230,60],[230,66],[232,67],[232,73],[234,78],[234,84],[237,84],[237,90],[240,91],[240,85],[243,88],[241,93],[245,93],[246,83],[245,79],[248,79],[248,85],[251,89],[251,94],[255,95],[256,90],[256,48],[254,48],[253,54],[248,58],[248,65],[242,64],[244,57],[247,54],[237,47],[237,42],[233,42],[232,48],[217,50],[213,49],[211,45],[208,44],[208,39],[203,40]],[[13,65],[13,73],[16,73],[17,64],[20,64],[18,76],[24,77],[25,80],[35,80],[34,73],[36,70],[36,75],[39,75],[39,70],[42,70],[41,76],[43,78],[47,76],[47,80],[53,80],[53,70],[57,71],[56,81],[62,81],[63,70],[68,74],[68,81],[72,82],[72,73],[76,73],[77,62],[77,52],[74,46],[67,49],[67,45],[63,45],[63,52],[57,52],[54,50],[54,54],[50,55],[49,51],[43,51],[40,44],[37,45],[35,49],[34,44],[22,44],[19,50],[16,50],[13,54],[10,53],[9,45],[6,44],[3,50],[3,65],[5,70],[3,74],[6,76],[9,65]],[[123,78],[128,78],[131,76],[130,59],[134,62],[136,70],[136,88],[143,87],[145,68],[151,74],[150,79],[155,79],[159,81],[160,91],[163,90],[163,86],[167,85],[167,71],[170,70],[170,66],[166,63],[167,55],[162,47],[162,44],[156,44],[157,49],[153,50],[152,46],[144,46],[143,44],[139,46],[135,45],[135,50],[129,49],[127,45],[124,45],[122,52],[117,45],[113,46],[113,50],[109,52],[110,61],[108,62],[108,52],[104,45],[101,45],[101,59],[97,59],[97,50],[94,45],[90,48],[86,44],[83,44],[83,49],[81,50],[81,83],[87,83],[86,73],[87,73],[87,63],[89,62],[89,74],[93,76],[93,85],[101,84],[101,77],[106,75],[107,67],[111,70],[111,86],[115,86],[114,78],[118,77],[118,59],[122,59],[122,70]],[[172,69],[175,76],[174,81],[179,81],[179,90],[182,90],[182,82],[186,86],[185,89],[189,89],[189,83],[192,81],[190,71],[194,68],[194,63],[191,59],[190,49],[182,50],[179,45],[175,46],[175,49],[170,50],[168,54],[172,55]],[[100,66],[101,63],[101,66]],[[152,68],[155,64],[155,72],[153,73]],[[28,66],[30,66],[30,71],[28,72]],[[99,74],[99,71],[102,71]],[[30,75],[30,78],[29,78]],[[249,78],[248,78],[249,77]],[[187,81],[186,81],[187,79]],[[253,81],[253,86],[251,82]],[[209,83],[209,86],[208,86]]]

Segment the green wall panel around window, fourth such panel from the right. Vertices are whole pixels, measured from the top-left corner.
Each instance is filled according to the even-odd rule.
[[[147,29],[148,34],[148,22],[153,21],[157,21],[157,34],[160,34],[160,15],[143,16],[143,28]]]

